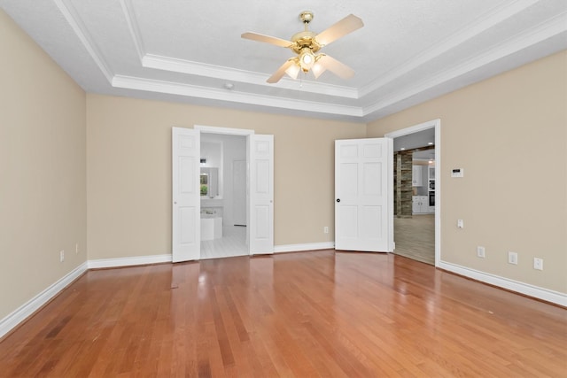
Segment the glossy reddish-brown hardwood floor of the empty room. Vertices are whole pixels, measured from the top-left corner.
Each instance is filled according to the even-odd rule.
[[[567,376],[567,310],[392,254],[94,270],[0,342],[0,375]]]

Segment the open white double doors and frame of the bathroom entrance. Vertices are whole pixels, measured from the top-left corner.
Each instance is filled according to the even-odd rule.
[[[212,188],[214,178],[209,181],[205,177],[203,184],[199,181],[202,132],[245,135],[248,253],[274,253],[274,135],[256,135],[250,129],[195,125],[193,128],[172,127],[172,261],[201,258],[202,223],[209,223],[206,227],[213,235],[221,229],[218,212],[207,214],[217,218],[213,225],[201,218],[201,193],[218,193],[218,189]],[[207,174],[214,175],[216,171]]]

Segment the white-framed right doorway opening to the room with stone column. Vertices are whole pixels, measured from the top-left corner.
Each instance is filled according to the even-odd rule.
[[[419,258],[419,255],[421,253],[420,250],[432,248],[434,250],[434,261],[431,261],[430,258],[428,261],[423,262],[434,264],[435,266],[439,266],[440,261],[440,127],[440,120],[431,120],[385,135],[386,137],[394,139],[394,145],[396,144],[396,140],[400,141],[400,139],[402,138],[405,139],[406,141],[408,141],[408,147],[404,147],[404,149],[408,148],[408,150],[416,149],[418,147],[422,147],[425,150],[428,148],[431,149],[431,144],[428,144],[431,143],[431,141],[419,142],[421,139],[420,136],[431,135],[431,138],[434,139],[434,142],[432,143],[435,148],[435,158],[432,165],[432,171],[430,171],[431,164],[429,164],[429,160],[427,161],[426,165],[423,165],[425,169],[417,170],[421,171],[422,173],[425,172],[426,180],[423,181],[422,176],[420,187],[421,190],[425,190],[425,193],[419,193],[423,194],[423,198],[420,196],[412,196],[412,203],[406,204],[406,208],[409,207],[410,209],[410,216],[398,218],[392,215],[392,218],[394,218],[392,219],[392,224],[394,224],[394,243],[396,245],[394,253],[396,253],[396,249],[398,249],[398,243],[400,243],[400,254],[408,256],[409,258],[415,258],[423,261]],[[411,143],[421,143],[423,145],[416,145]],[[394,153],[395,150],[400,150],[400,147],[398,146],[397,149],[394,147]],[[412,168],[410,169],[412,172],[414,171]],[[431,173],[433,174],[432,180],[434,180],[434,184],[432,186],[433,190],[430,190],[429,182]],[[412,179],[412,181],[414,180]],[[414,190],[416,190],[416,188],[412,189],[412,191]],[[413,192],[410,193],[414,194]],[[413,203],[416,201],[417,206]],[[432,204],[432,208],[430,204]],[[416,212],[416,209],[419,209],[418,212]],[[423,243],[420,242],[420,238],[422,238]],[[409,253],[407,254],[403,250],[408,250]],[[412,254],[415,254],[416,256],[411,256]]]

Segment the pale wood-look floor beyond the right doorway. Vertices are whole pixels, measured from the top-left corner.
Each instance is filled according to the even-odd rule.
[[[435,214],[393,219],[394,253],[435,265]]]

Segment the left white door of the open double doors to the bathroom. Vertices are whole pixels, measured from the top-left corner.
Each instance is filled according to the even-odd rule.
[[[198,260],[201,247],[200,132],[172,128],[173,262]]]

